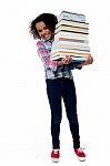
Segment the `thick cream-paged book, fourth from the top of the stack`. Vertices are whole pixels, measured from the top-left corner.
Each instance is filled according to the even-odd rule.
[[[59,38],[67,38],[67,39],[80,39],[80,40],[88,40],[88,35],[84,33],[78,32],[68,32],[68,31],[59,31],[54,35],[54,41],[58,41]]]

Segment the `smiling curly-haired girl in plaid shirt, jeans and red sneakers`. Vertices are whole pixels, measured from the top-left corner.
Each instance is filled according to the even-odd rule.
[[[73,139],[73,151],[79,160],[86,159],[86,154],[80,148],[79,122],[77,115],[77,96],[73,75],[70,69],[71,58],[66,56],[61,61],[51,61],[50,53],[54,39],[54,29],[58,19],[52,13],[42,13],[30,23],[30,33],[37,42],[38,54],[42,60],[46,72],[47,95],[51,110],[51,136],[53,162],[60,158],[60,123],[62,118],[61,100],[63,98],[67,117]],[[90,55],[86,62],[77,66],[91,64],[93,61]]]

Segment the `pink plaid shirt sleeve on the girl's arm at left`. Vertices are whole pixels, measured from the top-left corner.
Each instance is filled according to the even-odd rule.
[[[51,69],[52,71],[56,71],[58,66],[58,62],[50,60],[48,51],[46,50],[42,41],[37,42],[37,51],[43,63],[44,69]]]

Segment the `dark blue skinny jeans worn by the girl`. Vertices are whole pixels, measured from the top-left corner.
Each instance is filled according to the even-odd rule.
[[[52,148],[60,148],[60,123],[62,118],[63,98],[66,113],[73,139],[73,147],[80,147],[79,123],[77,115],[77,96],[73,80],[61,77],[56,80],[46,80],[47,94],[51,108],[51,136]]]

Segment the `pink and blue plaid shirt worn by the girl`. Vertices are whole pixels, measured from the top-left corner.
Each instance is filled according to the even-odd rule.
[[[73,76],[71,72],[71,66],[69,64],[58,66],[57,61],[50,60],[51,46],[52,41],[40,40],[37,42],[37,51],[41,61],[43,62],[46,79],[53,80],[58,77],[68,77],[72,80]]]

